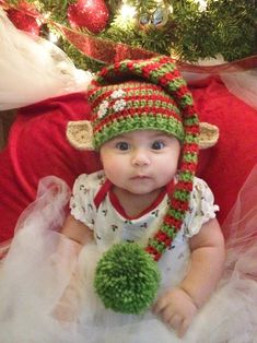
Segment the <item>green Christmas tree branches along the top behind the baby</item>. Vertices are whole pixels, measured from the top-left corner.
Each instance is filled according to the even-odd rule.
[[[52,21],[69,26],[67,10],[77,0],[27,2],[35,5],[42,14],[48,13]],[[197,0],[128,0],[127,3],[136,8],[137,15],[126,23],[118,15],[124,1],[105,2],[109,10],[109,22],[97,35],[102,38],[159,54],[172,54],[187,61],[215,57],[218,54],[232,61],[257,52],[257,0],[207,0],[206,10],[202,10]],[[10,0],[9,3],[19,5],[19,0]],[[152,19],[160,8],[166,16],[163,25],[140,23],[142,17]],[[49,31],[56,32],[56,28],[49,24],[44,25],[42,35],[47,37]],[[90,34],[86,28],[81,28],[81,32]],[[98,62],[86,58],[63,36],[58,45],[77,67],[93,71],[100,68]]]

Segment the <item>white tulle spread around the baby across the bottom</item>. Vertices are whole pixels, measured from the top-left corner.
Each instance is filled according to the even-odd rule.
[[[94,244],[78,253],[77,244],[59,233],[70,190],[56,177],[43,179],[37,200],[21,216],[1,262],[0,342],[257,342],[256,181],[257,167],[225,222],[231,235],[224,275],[179,340],[151,310],[127,316],[103,307],[93,287],[101,253]],[[177,253],[189,258],[184,247]],[[179,282],[187,264],[176,271],[171,261],[165,265],[165,258],[160,263],[162,270],[172,270],[163,277],[161,293],[171,286],[171,280]]]

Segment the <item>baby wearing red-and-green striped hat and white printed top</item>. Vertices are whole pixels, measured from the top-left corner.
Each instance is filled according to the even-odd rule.
[[[138,243],[154,260],[182,264],[179,282],[171,280],[152,310],[183,336],[215,288],[225,257],[218,206],[194,176],[199,128],[191,94],[162,57],[104,69],[89,100],[103,170],[77,179],[62,233],[81,247],[95,239],[102,252]],[[176,256],[180,245],[190,250],[186,273]]]

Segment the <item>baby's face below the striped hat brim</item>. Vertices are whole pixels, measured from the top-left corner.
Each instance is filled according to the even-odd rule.
[[[162,131],[140,130],[117,135],[101,147],[107,178],[118,188],[147,194],[176,174],[180,144]]]

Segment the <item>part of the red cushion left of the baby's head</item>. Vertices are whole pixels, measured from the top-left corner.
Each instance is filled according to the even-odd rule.
[[[101,168],[94,152],[77,151],[66,140],[67,122],[87,116],[82,93],[19,110],[8,147],[0,154],[0,241],[12,237],[16,220],[35,199],[42,177],[55,175],[71,187],[81,173]]]

